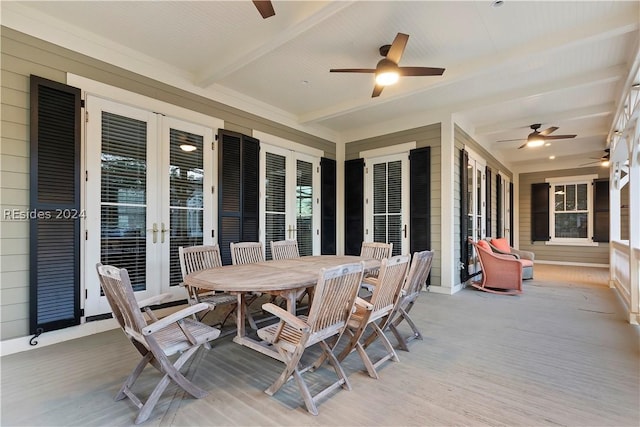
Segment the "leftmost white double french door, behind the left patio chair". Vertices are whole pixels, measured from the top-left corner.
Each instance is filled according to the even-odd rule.
[[[138,299],[183,299],[178,247],[212,242],[212,129],[98,97],[86,108],[85,316],[110,311],[97,262],[126,268]]]

